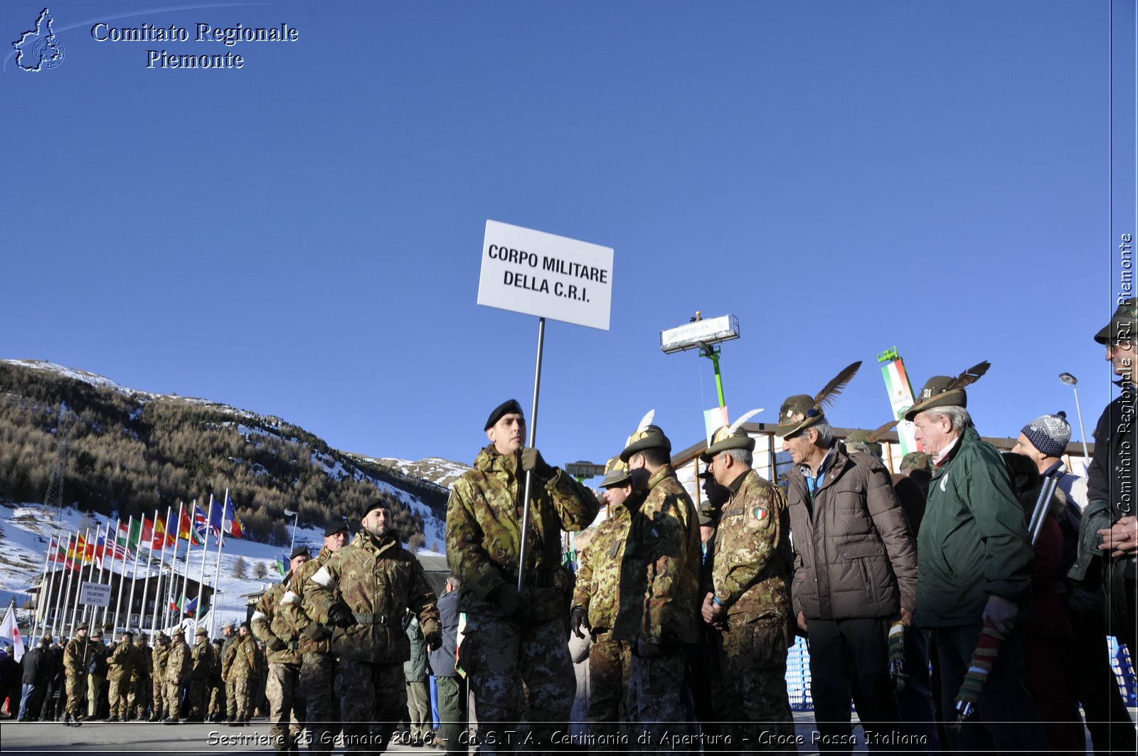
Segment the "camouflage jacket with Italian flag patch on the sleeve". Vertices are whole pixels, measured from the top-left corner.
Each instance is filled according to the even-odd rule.
[[[749,470],[728,486],[716,528],[711,583],[727,616],[787,617],[793,554],[782,488]]]

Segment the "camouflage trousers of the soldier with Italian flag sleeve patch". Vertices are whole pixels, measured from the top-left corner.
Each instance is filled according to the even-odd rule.
[[[734,615],[711,633],[711,697],[728,749],[795,753],[786,693],[786,619]]]

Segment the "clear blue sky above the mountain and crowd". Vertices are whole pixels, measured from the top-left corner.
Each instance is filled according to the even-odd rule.
[[[710,362],[659,350],[696,310],[739,317],[733,417],[863,360],[830,417],[874,428],[894,345],[917,391],[990,360],[986,435],[1074,421],[1061,371],[1088,433],[1113,395],[1091,336],[1135,231],[1133,3],[1113,121],[1107,2],[84,1],[50,6],[63,63],[19,71],[42,7],[2,11],[2,358],[469,462],[534,380],[536,319],[476,304],[494,219],[616,250],[611,329],[546,328],[554,463],[615,454],[651,408],[702,437]]]

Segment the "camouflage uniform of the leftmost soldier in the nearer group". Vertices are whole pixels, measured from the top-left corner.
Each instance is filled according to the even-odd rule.
[[[269,696],[269,736],[279,754],[296,748],[305,725],[299,643],[291,624],[280,609],[289,578],[290,575],[286,575],[284,580],[261,597],[249,621],[254,635],[266,647],[283,644],[278,650],[269,649],[269,680],[265,688]]]

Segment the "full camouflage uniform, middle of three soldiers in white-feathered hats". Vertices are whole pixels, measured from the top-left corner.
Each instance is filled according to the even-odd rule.
[[[676,724],[687,720],[681,696],[684,646],[699,640],[702,551],[695,506],[670,465],[649,478],[646,491],[628,531],[612,635],[633,649],[632,718],[649,736],[645,750],[657,750],[665,737],[676,734]],[[638,656],[641,642],[655,644],[659,654]]]

